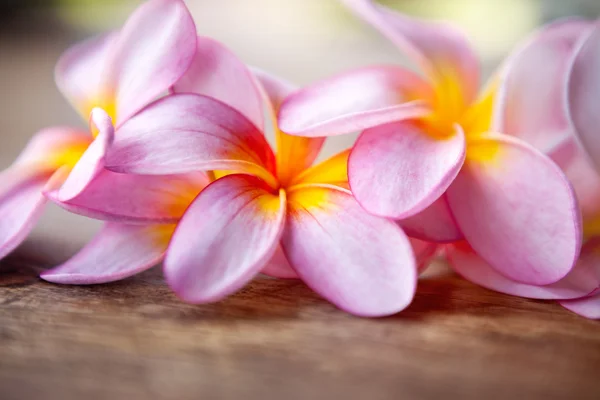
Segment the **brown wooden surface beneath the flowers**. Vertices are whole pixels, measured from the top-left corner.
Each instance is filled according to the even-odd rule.
[[[444,269],[375,320],[297,281],[193,306],[158,269],[87,287],[0,270],[3,400],[600,398],[600,323]]]

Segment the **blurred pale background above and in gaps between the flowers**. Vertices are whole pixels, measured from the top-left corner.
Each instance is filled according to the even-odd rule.
[[[54,85],[60,54],[78,40],[119,27],[140,0],[0,0],[0,168],[36,131],[84,126]],[[198,32],[223,42],[249,64],[298,84],[347,68],[404,63],[393,46],[336,0],[187,0]],[[489,75],[540,25],[565,16],[597,18],[598,0],[385,0],[400,11],[453,21],[471,38]],[[325,154],[353,137],[331,139]],[[53,264],[76,252],[97,221],[51,206],[14,254]]]

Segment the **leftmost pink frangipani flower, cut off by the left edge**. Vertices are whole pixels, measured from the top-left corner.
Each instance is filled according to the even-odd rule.
[[[196,30],[183,2],[150,0],[119,32],[80,43],[61,57],[56,67],[60,90],[85,119],[93,109],[100,111],[90,124],[91,135],[76,128],[45,129],[0,174],[0,257],[33,228],[45,204],[42,191],[54,191],[62,201],[74,200],[98,174],[103,175],[102,189],[111,186],[116,174],[102,170],[113,133],[108,116],[119,126],[166,93],[187,70],[195,51]],[[100,132],[97,124],[110,128]]]

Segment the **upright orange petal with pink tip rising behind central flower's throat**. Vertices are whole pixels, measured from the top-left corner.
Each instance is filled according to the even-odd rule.
[[[288,185],[298,174],[309,168],[315,161],[325,138],[292,136],[282,132],[277,126],[277,112],[287,95],[296,87],[291,83],[267,72],[254,70],[272,119],[272,129],[277,144],[277,177],[282,185]]]

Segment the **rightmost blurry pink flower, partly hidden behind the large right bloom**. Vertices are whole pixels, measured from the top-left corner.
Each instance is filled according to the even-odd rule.
[[[551,156],[572,183],[584,232],[575,268],[556,283],[530,285],[499,274],[467,243],[446,245],[445,251],[453,269],[474,283],[515,296],[559,300],[578,314],[600,318],[600,175],[575,140],[564,101],[570,60],[591,26],[559,21],[528,40],[504,67],[499,97],[506,101],[499,101],[496,111],[504,132]]]

